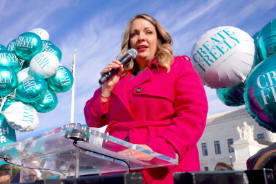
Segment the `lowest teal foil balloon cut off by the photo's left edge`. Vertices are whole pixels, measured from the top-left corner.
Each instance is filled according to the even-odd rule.
[[[7,66],[0,66],[0,96],[5,97],[17,87],[17,74]]]

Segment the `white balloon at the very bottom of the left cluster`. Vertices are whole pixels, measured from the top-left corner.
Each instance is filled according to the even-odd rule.
[[[13,102],[3,111],[8,125],[17,131],[33,131],[39,125],[39,117],[34,107],[23,102]]]

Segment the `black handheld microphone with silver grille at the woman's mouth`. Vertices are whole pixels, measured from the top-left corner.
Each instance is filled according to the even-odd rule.
[[[128,50],[128,53],[126,53],[126,55],[124,55],[123,57],[121,57],[121,59],[119,59],[119,62],[121,62],[121,64],[123,65],[128,64],[128,62],[130,62],[131,59],[135,59],[137,55],[138,55],[137,50],[130,48]],[[116,69],[112,69],[110,72],[103,73],[103,75],[101,75],[101,78],[99,79],[99,84],[103,84],[104,82],[110,80],[110,78],[116,75],[118,72],[119,72],[119,68],[116,68]]]

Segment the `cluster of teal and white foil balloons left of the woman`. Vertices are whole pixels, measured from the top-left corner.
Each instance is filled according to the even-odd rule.
[[[0,111],[10,127],[36,129],[37,113],[55,109],[57,93],[71,89],[74,79],[61,66],[61,57],[61,50],[41,28],[19,35],[6,47],[0,45]]]

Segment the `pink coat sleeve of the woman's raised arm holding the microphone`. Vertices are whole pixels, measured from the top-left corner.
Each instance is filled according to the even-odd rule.
[[[108,100],[109,102],[109,100]],[[88,127],[103,127],[107,125],[106,113],[108,112],[108,102],[101,102],[101,88],[97,89],[84,107],[84,117]]]

